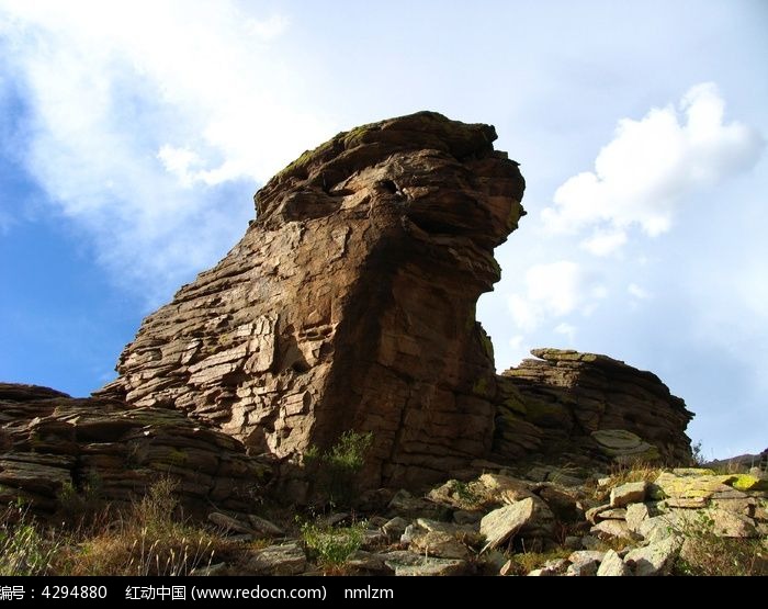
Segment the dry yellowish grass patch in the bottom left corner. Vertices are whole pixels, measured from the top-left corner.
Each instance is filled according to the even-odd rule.
[[[10,506],[0,514],[0,575],[189,575],[257,550],[192,523],[174,492],[176,483],[161,478],[127,510],[106,506],[69,528]]]

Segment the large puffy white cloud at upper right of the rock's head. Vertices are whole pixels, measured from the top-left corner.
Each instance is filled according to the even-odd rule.
[[[753,128],[724,122],[714,83],[692,87],[679,103],[622,119],[595,170],[566,180],[542,211],[553,233],[591,230],[581,246],[598,256],[615,251],[640,227],[654,237],[669,230],[682,199],[749,169],[765,142]],[[684,120],[680,121],[682,114]]]

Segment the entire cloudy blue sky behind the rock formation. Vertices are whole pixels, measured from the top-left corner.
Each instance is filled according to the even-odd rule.
[[[707,456],[768,441],[768,4],[0,0],[0,379],[86,395],[256,189],[354,125],[495,124],[529,215],[497,366],[656,372]]]

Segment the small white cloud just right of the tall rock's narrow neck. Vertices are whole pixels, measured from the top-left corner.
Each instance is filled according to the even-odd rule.
[[[524,292],[510,295],[508,304],[517,327],[531,331],[551,319],[589,315],[607,295],[597,275],[577,262],[560,260],[528,269]]]

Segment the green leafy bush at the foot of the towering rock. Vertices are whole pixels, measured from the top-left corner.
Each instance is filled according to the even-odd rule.
[[[359,495],[358,474],[365,464],[365,454],[372,443],[372,432],[349,430],[323,454],[317,447],[305,451],[304,463],[316,475],[316,488],[331,505],[349,506]]]

